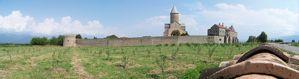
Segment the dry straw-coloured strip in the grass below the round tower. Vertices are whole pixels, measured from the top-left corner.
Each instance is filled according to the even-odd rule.
[[[85,71],[85,67],[81,66],[81,61],[82,60],[88,61],[88,59],[87,58],[79,59],[78,58],[79,54],[76,53],[75,51],[74,51],[74,54],[75,54],[75,56],[72,57],[71,64],[74,65],[73,69],[75,70],[75,73],[73,75],[75,75],[77,78],[79,78],[79,79],[91,79],[91,78],[97,79],[97,78],[103,77],[107,74],[107,73],[100,72],[100,74],[96,75],[96,76],[88,75],[88,73]]]

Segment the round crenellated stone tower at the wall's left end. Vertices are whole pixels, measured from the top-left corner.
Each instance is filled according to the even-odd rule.
[[[75,46],[76,46],[76,34],[64,34],[63,47],[75,47]]]

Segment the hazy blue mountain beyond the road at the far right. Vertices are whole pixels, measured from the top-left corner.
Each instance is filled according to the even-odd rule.
[[[275,39],[282,39],[283,42],[292,42],[294,39],[296,42],[299,40],[299,35],[289,35],[289,36],[283,36],[283,37],[277,37],[277,38],[268,38],[268,40],[275,40]]]

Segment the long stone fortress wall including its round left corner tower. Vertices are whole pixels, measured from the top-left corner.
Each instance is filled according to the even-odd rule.
[[[70,36],[64,36],[70,37]],[[69,40],[69,41],[67,41]],[[157,44],[185,43],[224,43],[223,36],[192,35],[192,36],[143,36],[137,38],[106,38],[106,39],[75,39],[64,40],[64,47],[121,47]]]

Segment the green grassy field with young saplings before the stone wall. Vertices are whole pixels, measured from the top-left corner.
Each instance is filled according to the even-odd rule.
[[[234,55],[243,54],[259,44],[75,48],[2,46],[0,78],[163,79],[176,75],[198,79],[203,69],[218,67],[222,61],[232,60]]]

